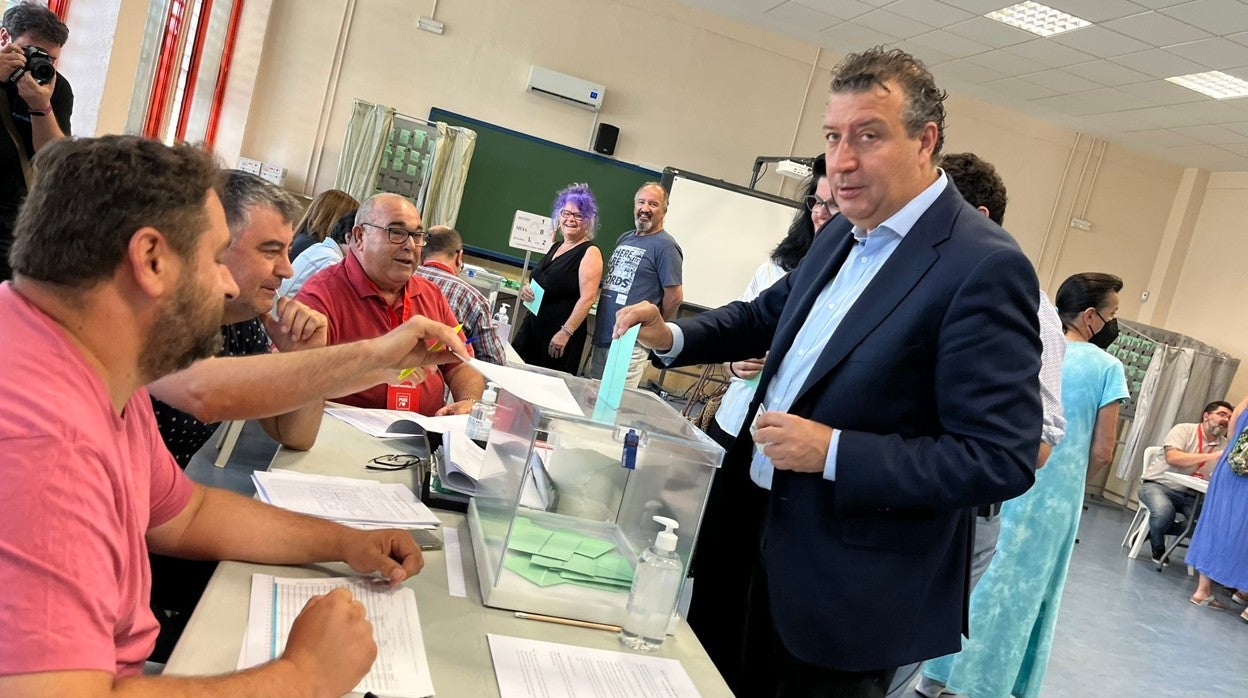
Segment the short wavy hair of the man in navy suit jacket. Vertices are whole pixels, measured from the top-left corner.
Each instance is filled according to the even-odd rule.
[[[945,90],[936,86],[936,79],[924,61],[900,49],[876,46],[861,54],[850,54],[832,69],[832,92],[866,92],[876,87],[889,89],[896,82],[905,90],[906,104],[901,109],[901,121],[906,135],[915,137],[929,121],[936,124],[936,147],[932,161],[940,157],[945,145]]]

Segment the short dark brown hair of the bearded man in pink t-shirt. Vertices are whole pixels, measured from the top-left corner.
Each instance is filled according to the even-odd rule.
[[[39,150],[34,169],[9,263],[15,273],[66,290],[112,276],[142,227],[193,258],[210,225],[208,192],[220,195],[208,154],[137,136],[61,139]]]

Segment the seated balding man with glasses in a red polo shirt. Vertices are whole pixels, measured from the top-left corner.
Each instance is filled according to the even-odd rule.
[[[442,291],[413,276],[424,241],[424,224],[416,206],[402,196],[378,194],[356,214],[347,256],[307,280],[296,298],[329,320],[331,345],[384,335],[417,315],[453,326],[456,316]],[[444,398],[447,386],[453,398],[449,405]],[[339,401],[386,407],[388,390],[393,388],[382,383]],[[480,373],[462,363],[427,368],[413,412],[463,415],[484,391]]]

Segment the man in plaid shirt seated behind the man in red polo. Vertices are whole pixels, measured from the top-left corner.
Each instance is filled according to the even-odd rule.
[[[507,350],[489,315],[489,300],[459,278],[459,272],[464,270],[464,241],[459,231],[447,226],[431,227],[423,262],[416,270],[417,276],[432,281],[446,296],[451,312],[464,326],[464,335],[475,337],[472,348],[477,358],[505,365]]]

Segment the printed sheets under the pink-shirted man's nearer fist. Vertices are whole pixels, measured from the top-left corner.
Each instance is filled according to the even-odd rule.
[[[247,632],[238,668],[256,667],[281,657],[291,626],[308,599],[337,588],[349,589],[364,606],[368,622],[373,626],[373,642],[377,643],[377,659],[354,691],[404,698],[433,696],[416,592],[407,587],[392,589],[384,582],[366,577],[285,579],[252,574]]]

